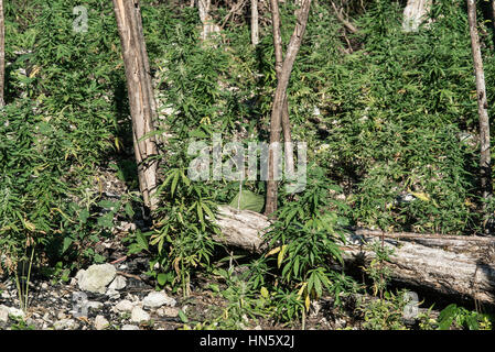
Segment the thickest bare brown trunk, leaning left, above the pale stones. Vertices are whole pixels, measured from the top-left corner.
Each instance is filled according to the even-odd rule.
[[[158,150],[155,138],[149,134],[154,131],[157,106],[139,0],[114,0],[114,8],[126,67],[139,188],[144,206],[154,210],[158,202],[153,197],[157,191]],[[149,136],[144,139],[146,135]]]

